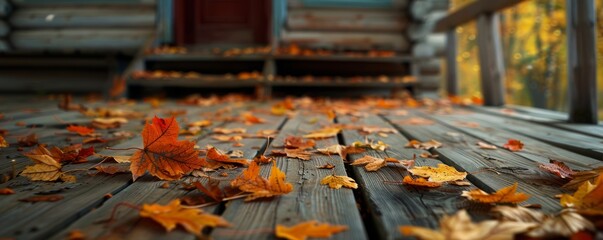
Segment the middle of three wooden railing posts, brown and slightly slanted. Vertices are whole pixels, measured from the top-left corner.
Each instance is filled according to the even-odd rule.
[[[482,94],[486,106],[502,106],[505,104],[505,67],[499,19],[498,13],[482,14],[477,19],[479,65]]]

